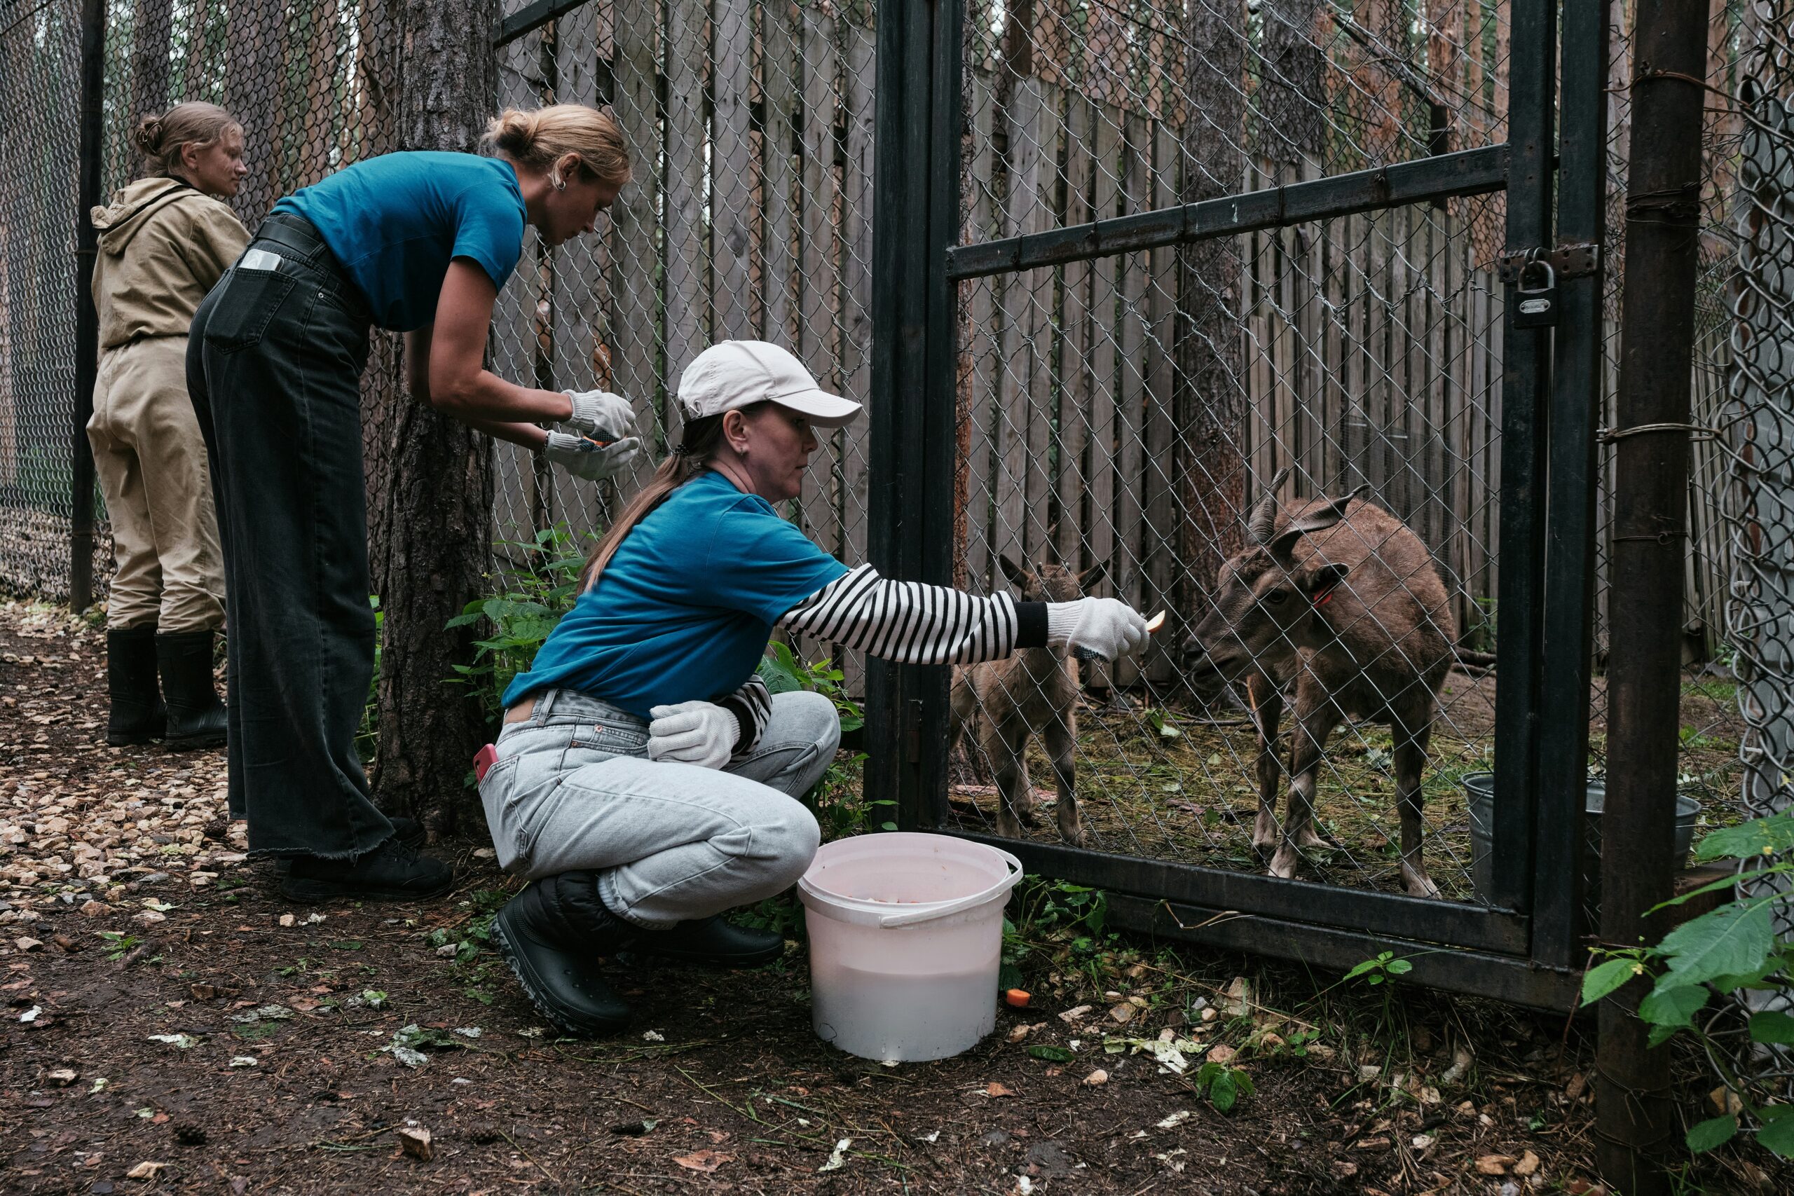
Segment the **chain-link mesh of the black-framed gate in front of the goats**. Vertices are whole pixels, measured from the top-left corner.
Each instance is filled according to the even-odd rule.
[[[969,13],[967,242],[1505,138],[1505,5]],[[953,787],[962,828],[1012,828],[1017,802],[1058,802],[1075,825],[1071,785],[1032,802],[1001,742],[1030,717],[1012,706],[1037,706],[1075,721],[1075,741],[1055,732],[1028,760],[1071,780],[1091,846],[1476,895],[1466,802],[1493,764],[1503,222],[1502,192],[1460,195],[962,283],[967,585],[1051,576],[1170,611],[1137,667],[1064,665],[1082,706],[1044,662],[962,678],[980,744]],[[1333,611],[1353,611],[1369,669],[1317,656],[1290,620],[1245,626],[1285,567],[1290,611],[1333,601],[1265,542],[1360,491],[1326,552],[1351,568]],[[1279,651],[1274,626],[1304,647]],[[1396,724],[1367,685],[1399,690]],[[1306,730],[1279,741],[1285,705]]]

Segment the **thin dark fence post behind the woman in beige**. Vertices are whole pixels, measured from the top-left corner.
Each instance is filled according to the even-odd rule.
[[[93,310],[93,255],[99,231],[88,213],[100,203],[100,102],[106,90],[106,0],[81,0],[81,149],[75,199],[75,427],[72,430],[74,511],[68,522],[68,604],[93,604],[93,380],[99,373],[100,316]]]

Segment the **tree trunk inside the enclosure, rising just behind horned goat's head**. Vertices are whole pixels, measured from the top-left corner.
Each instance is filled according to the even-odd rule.
[[[1245,0],[1191,5],[1184,84],[1182,203],[1243,186]],[[1215,576],[1241,543],[1247,502],[1247,391],[1240,364],[1240,240],[1215,237],[1177,253],[1175,407],[1182,429],[1180,610],[1197,622]]]

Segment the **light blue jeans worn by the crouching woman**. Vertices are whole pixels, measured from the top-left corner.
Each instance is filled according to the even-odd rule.
[[[727,769],[648,758],[648,723],[545,690],[499,735],[479,785],[499,866],[531,880],[597,871],[610,911],[644,929],[757,902],[809,868],[820,830],[797,802],[841,721],[822,694],[775,694],[759,746]]]

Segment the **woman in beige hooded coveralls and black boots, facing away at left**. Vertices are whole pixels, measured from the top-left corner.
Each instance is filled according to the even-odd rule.
[[[100,362],[88,441],[118,559],[106,742],[217,748],[224,706],[212,689],[212,640],[224,626],[224,563],[187,398],[187,328],[249,242],[222,203],[248,174],[242,126],[213,104],[179,104],[147,117],[136,145],[144,178],[93,210]]]

